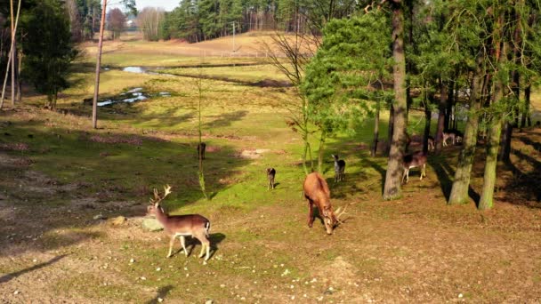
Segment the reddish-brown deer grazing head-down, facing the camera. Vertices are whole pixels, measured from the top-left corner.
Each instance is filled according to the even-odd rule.
[[[343,223],[340,217],[345,213],[345,208],[342,212],[340,212],[341,208],[338,208],[334,212],[330,199],[331,191],[328,188],[327,181],[323,179],[319,172],[311,172],[304,180],[303,193],[304,197],[308,200],[308,227],[311,228],[315,220],[313,210],[315,204],[316,208],[318,208],[319,216],[322,217],[327,235],[332,235],[338,223]]]

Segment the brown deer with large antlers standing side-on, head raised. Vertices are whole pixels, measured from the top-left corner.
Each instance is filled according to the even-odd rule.
[[[157,189],[154,188],[154,198],[150,199],[150,205],[147,209],[148,214],[156,215],[157,221],[163,226],[166,234],[170,236],[169,240],[169,253],[167,258],[171,257],[173,252],[174,239],[178,236],[181,240],[182,249],[184,254],[188,256],[186,250],[185,237],[195,237],[201,242],[201,252],[199,258],[205,255],[205,261],[210,257],[210,241],[208,240],[208,230],[210,229],[210,221],[199,214],[185,214],[185,215],[169,215],[159,205],[167,195],[171,193],[171,187],[167,185],[164,187],[164,195],[160,196]]]

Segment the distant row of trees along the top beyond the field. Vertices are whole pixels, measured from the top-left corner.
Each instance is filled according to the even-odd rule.
[[[341,18],[354,12],[352,0],[182,0],[160,22],[160,37],[198,42],[233,31],[316,31],[321,20]]]

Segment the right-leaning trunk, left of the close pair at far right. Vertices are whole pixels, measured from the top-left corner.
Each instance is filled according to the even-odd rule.
[[[470,174],[472,172],[473,157],[477,144],[477,131],[479,129],[480,92],[485,74],[482,54],[477,55],[477,68],[473,72],[472,90],[469,100],[469,111],[464,129],[464,148],[458,156],[455,180],[451,188],[448,204],[466,204],[469,201]]]

